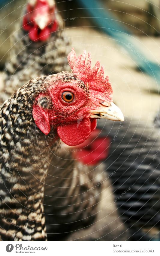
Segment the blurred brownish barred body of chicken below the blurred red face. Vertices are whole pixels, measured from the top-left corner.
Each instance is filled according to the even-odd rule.
[[[54,157],[56,167],[54,172],[49,168],[44,187],[47,239],[51,241],[66,239],[94,222],[101,200],[101,186],[97,184],[104,179],[102,168],[78,164],[68,153],[59,157],[61,161]]]

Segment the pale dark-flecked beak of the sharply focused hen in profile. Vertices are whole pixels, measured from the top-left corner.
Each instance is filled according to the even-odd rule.
[[[124,121],[122,111],[113,102],[110,106],[102,106],[97,109],[88,111],[91,115],[90,118],[105,118],[113,121]]]

